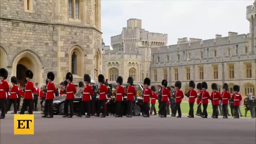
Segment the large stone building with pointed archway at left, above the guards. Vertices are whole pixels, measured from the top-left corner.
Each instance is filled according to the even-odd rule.
[[[17,76],[34,72],[33,82],[44,84],[47,72],[55,83],[74,74],[101,73],[101,0],[1,0],[0,67]],[[96,72],[97,70],[97,72]]]

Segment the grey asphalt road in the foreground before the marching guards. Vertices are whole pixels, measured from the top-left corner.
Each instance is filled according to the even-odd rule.
[[[41,118],[34,135],[14,135],[13,115],[0,120],[0,144],[256,144],[251,118]]]

